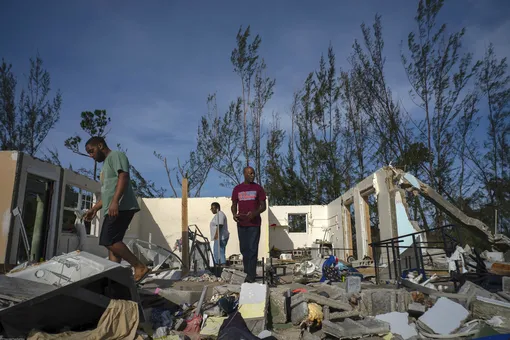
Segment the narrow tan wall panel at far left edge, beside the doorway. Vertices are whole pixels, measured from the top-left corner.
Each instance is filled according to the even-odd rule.
[[[11,151],[0,152],[0,263],[7,263],[7,242],[11,229],[11,208],[18,153]]]

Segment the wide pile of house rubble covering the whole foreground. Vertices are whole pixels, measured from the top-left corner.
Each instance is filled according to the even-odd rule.
[[[0,335],[321,340],[506,334],[510,277],[493,270],[498,264],[496,271],[504,272],[506,260],[506,254],[459,247],[442,266],[455,261],[451,272],[461,280],[453,281],[433,271],[405,271],[394,283],[376,283],[373,272],[362,270],[373,261],[347,264],[329,256],[288,264],[292,283],[244,283],[244,273],[224,268],[220,277],[205,272],[179,280],[159,271],[137,287],[129,267],[73,252],[0,276]],[[486,270],[481,278],[480,268]]]

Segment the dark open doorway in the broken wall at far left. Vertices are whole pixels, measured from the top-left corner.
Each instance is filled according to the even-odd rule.
[[[37,175],[27,174],[22,218],[30,245],[30,258],[23,245],[18,242],[17,263],[28,260],[39,262],[46,258],[51,200],[55,182]]]

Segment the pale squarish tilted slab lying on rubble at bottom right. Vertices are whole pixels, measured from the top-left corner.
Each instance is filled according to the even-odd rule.
[[[418,321],[433,333],[447,335],[459,328],[468,316],[469,311],[461,304],[441,297]]]

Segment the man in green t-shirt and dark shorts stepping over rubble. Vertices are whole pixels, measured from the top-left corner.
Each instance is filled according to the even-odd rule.
[[[129,178],[129,161],[123,152],[110,150],[103,137],[90,138],[85,150],[96,162],[104,162],[100,175],[101,200],[87,211],[85,220],[92,220],[102,209],[104,220],[99,244],[108,249],[110,261],[129,262],[138,283],[147,277],[149,268],[122,241],[133,216],[140,211]]]

